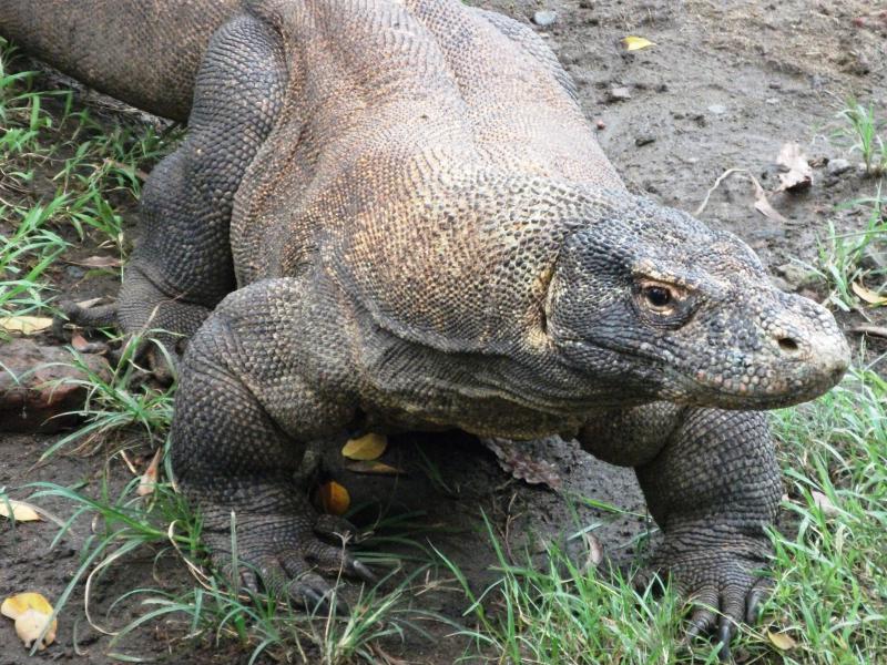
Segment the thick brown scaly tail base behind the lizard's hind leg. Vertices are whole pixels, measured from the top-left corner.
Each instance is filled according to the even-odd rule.
[[[96,90],[185,121],[210,37],[239,0],[2,0],[0,35]]]

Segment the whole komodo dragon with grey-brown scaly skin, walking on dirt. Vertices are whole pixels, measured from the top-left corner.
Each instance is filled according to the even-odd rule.
[[[319,572],[369,575],[295,487],[306,442],[557,432],[636,470],[691,634],[754,617],[781,495],[761,410],[834,386],[846,341],[742,241],[631,195],[532,30],[458,0],[0,7],[38,57],[187,115],[119,321],[191,338],[172,463],[217,563],[234,511],[249,585],[314,605]]]

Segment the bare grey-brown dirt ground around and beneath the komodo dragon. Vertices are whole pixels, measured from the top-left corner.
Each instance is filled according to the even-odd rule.
[[[583,109],[604,151],[629,186],[659,202],[693,212],[715,178],[728,168],[746,168],[763,186],[775,190],[775,157],[785,142],[798,142],[810,157],[814,183],[801,194],[778,194],[773,206],[787,223],[776,223],[753,208],[754,193],[742,178],[727,180],[701,214],[716,228],[730,229],[747,241],[786,289],[806,289],[822,297],[816,285],[807,285],[793,262],[813,263],[817,238],[835,219],[839,231],[858,229],[865,219],[854,209],[836,211],[837,204],[874,193],[874,181],[856,170],[840,176],[827,174],[828,160],[849,158],[846,147],[829,141],[836,112],[848,95],[874,102],[887,110],[887,3],[871,0],[819,1],[619,1],[550,0],[547,2],[483,2],[510,16],[530,21],[539,10],[557,12],[554,22],[536,27],[574,78]],[[620,40],[642,35],[655,45],[625,52]],[[135,212],[129,222],[134,223]],[[875,257],[877,259],[877,257]],[[113,293],[113,282],[82,282],[81,275],[60,268],[60,285],[78,296]],[[873,317],[874,315],[868,315]],[[842,315],[850,327],[863,315]],[[873,318],[871,323],[884,325]],[[858,336],[852,336],[858,346]],[[887,351],[884,339],[871,338],[869,352]],[[104,472],[99,457],[57,457],[32,468],[57,436],[0,436],[0,487],[35,480],[98,488]],[[419,454],[418,450],[424,452]],[[146,450],[142,450],[146,453]],[[136,452],[137,454],[137,452]],[[527,534],[552,535],[572,526],[570,510],[558,494],[528,487],[501,471],[495,456],[459,434],[440,434],[417,443],[405,437],[387,453],[390,463],[407,471],[397,482],[390,478],[353,480],[354,493],[385,498],[389,511],[422,511],[429,524],[443,529],[428,539],[462,566],[476,586],[489,579],[493,555],[481,533],[483,511],[498,534],[519,551]],[[574,446],[549,447],[543,454],[554,463],[569,492],[643,512],[643,500],[630,471],[613,469],[589,458]],[[429,458],[447,485],[429,481]],[[122,466],[113,467],[112,487],[129,479]],[[98,491],[98,489],[96,489]],[[12,494],[16,497],[14,492]],[[68,511],[70,507],[48,504]],[[67,516],[65,513],[63,516]],[[621,516],[579,509],[581,524],[601,522],[595,530],[605,552],[616,563],[634,555],[632,539],[644,530],[641,518]],[[451,532],[448,532],[450,530]],[[0,533],[0,596],[23,587],[53,598],[78,567],[79,550],[90,524],[78,523],[70,538],[48,550],[57,528],[51,523],[29,525]],[[105,616],[103,603],[136,586],[175,587],[182,571],[164,567],[164,560],[131,561],[110,575],[98,591],[96,615],[111,625],[122,625],[140,611],[133,603]],[[459,620],[463,608],[456,594],[431,594],[419,602],[426,610]],[[12,631],[0,625],[0,665],[38,661],[83,664],[114,662],[105,654],[108,637],[90,627],[82,605],[74,597],[63,616],[58,644],[29,658]],[[440,628],[439,636],[449,630]],[[125,644],[125,653],[177,663],[238,663],[248,656],[223,649],[197,649],[175,657],[162,628],[145,630]],[[451,663],[461,652],[457,640],[435,644],[408,643],[409,662]]]

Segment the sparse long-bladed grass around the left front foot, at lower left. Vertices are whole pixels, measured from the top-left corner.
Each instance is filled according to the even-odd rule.
[[[109,458],[108,464],[114,457]],[[374,649],[379,641],[397,642],[407,632],[426,635],[417,618],[431,615],[412,608],[410,601],[428,564],[412,566],[398,581],[392,580],[398,571],[392,571],[379,585],[361,591],[345,616],[337,616],[335,611],[329,615],[306,615],[269,594],[220,583],[202,566],[206,553],[200,544],[200,521],[175,492],[170,478],[169,464],[164,463],[154,491],[147,497],[136,492],[139,477],[116,493],[103,477],[94,497],[91,494],[96,493],[95,488],[89,494],[49,482],[21,488],[33,491],[30,501],[62,499],[73,509],[51,546],[68,535],[77,522],[91,524],[91,535],[80,552],[80,565],[54,600],[54,610],[64,616],[71,595],[82,585],[86,620],[112,636],[106,646],[111,657],[142,662],[143,655],[128,646],[128,637],[145,625],[160,623],[173,634],[173,642],[222,648],[236,644],[249,654],[249,663],[263,654],[274,661],[300,658],[325,665],[356,658],[375,663]],[[131,570],[128,566],[139,559],[153,560],[153,567],[163,570],[164,576],[179,573],[173,591],[155,586],[132,589],[99,612],[92,600],[95,586],[103,577]],[[121,605],[135,605],[136,618],[116,624],[112,617]]]

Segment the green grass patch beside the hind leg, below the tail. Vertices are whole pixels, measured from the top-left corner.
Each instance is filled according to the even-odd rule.
[[[53,313],[51,272],[73,242],[125,258],[119,209],[179,139],[141,123],[109,130],[70,91],[34,90],[33,72],[10,73],[14,58],[0,38],[0,318]]]

